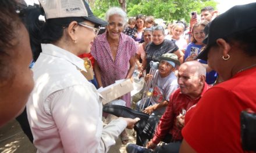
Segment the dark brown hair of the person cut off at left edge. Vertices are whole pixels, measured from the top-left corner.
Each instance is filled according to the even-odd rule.
[[[1,0],[0,3],[0,81],[4,81],[12,75],[9,61],[15,54],[12,49],[19,43],[17,32],[22,22],[16,13],[16,1]]]

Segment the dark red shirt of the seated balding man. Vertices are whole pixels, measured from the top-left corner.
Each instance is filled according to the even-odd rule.
[[[211,88],[211,86],[205,83],[201,96],[208,88]],[[192,105],[196,104],[200,100],[201,96],[198,99],[190,99],[189,96],[181,93],[180,89],[177,89],[172,96],[170,96],[170,101],[166,107],[165,114],[163,114],[160,119],[152,142],[154,144],[158,144],[167,133],[172,134],[173,141],[182,140],[182,133],[176,126],[176,117],[182,113],[182,109],[187,111]]]

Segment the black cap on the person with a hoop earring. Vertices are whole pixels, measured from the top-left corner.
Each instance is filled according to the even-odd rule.
[[[205,30],[206,37],[203,41],[207,46],[198,54],[197,59],[207,60],[209,46],[213,45],[217,39],[229,37],[231,34],[253,27],[256,27],[256,3],[233,6],[211,21],[208,34],[207,29]]]

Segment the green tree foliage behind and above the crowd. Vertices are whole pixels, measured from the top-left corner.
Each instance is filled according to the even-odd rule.
[[[216,9],[217,3],[214,0],[126,0],[127,15],[154,16],[165,21],[190,20],[190,12],[200,10],[205,6],[213,6]],[[112,6],[120,6],[118,0],[95,0],[93,12],[96,16],[104,18],[106,10]]]

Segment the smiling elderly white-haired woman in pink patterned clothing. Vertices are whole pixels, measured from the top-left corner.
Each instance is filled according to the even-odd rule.
[[[120,8],[110,8],[106,12],[106,32],[95,38],[91,54],[95,59],[94,72],[99,87],[106,87],[116,80],[131,78],[135,68],[134,40],[122,33],[126,24],[126,13]],[[126,106],[131,105],[130,93],[121,97]],[[122,143],[129,140],[126,132],[121,135]]]

